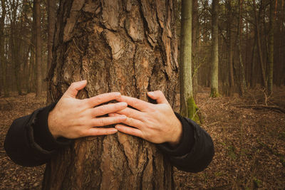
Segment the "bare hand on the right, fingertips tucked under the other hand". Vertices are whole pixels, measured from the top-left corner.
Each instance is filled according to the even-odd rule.
[[[149,142],[168,142],[175,146],[182,137],[182,124],[175,116],[172,107],[167,102],[165,95],[161,91],[149,92],[147,95],[157,104],[152,104],[135,97],[121,96],[116,99],[118,102],[127,102],[133,108],[126,107],[109,116],[125,115],[127,120],[123,124],[118,124],[115,128],[125,134],[141,137]],[[128,127],[128,126],[131,127]]]

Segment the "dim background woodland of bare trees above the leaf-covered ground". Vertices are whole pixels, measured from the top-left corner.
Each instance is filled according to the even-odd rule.
[[[48,50],[52,48],[57,7],[56,1],[1,0],[1,95],[46,91],[45,78],[51,64]],[[219,1],[215,11],[219,94],[243,95],[248,88],[257,85],[270,94],[273,84],[284,85],[284,0]],[[180,1],[176,12],[179,34]],[[211,84],[213,12],[211,1],[193,1],[194,93],[198,86]]]

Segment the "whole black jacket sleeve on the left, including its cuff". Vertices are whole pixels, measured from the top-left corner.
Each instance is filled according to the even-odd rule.
[[[58,149],[70,143],[68,139],[54,139],[48,130],[48,113],[56,103],[14,120],[6,134],[6,154],[25,167],[45,164]]]

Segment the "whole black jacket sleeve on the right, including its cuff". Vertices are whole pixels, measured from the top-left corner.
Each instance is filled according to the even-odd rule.
[[[182,139],[177,147],[158,144],[158,148],[169,157],[177,169],[190,172],[204,170],[214,157],[212,138],[197,123],[175,113],[182,123]]]

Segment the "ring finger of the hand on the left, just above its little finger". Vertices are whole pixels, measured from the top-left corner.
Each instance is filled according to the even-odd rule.
[[[120,115],[118,117],[94,118],[91,122],[91,126],[92,127],[103,127],[106,125],[118,124],[120,122],[124,122],[125,120],[127,120],[127,117],[125,117],[125,115]]]

